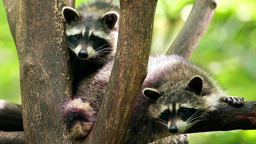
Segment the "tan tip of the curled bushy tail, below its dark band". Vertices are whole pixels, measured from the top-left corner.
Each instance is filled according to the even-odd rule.
[[[93,123],[78,121],[73,125],[69,132],[71,139],[85,138],[91,131]]]

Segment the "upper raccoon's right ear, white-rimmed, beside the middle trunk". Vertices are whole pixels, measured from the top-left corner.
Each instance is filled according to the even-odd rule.
[[[108,28],[113,29],[118,22],[119,14],[115,11],[109,11],[105,13],[100,19],[104,24],[108,26]]]

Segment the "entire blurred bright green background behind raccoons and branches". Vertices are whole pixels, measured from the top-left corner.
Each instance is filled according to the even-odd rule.
[[[88,0],[76,0],[79,3]],[[165,53],[184,24],[194,0],[159,0],[151,53]],[[19,61],[0,0],[0,99],[21,103]],[[256,100],[256,1],[220,0],[191,57],[219,77],[232,96]],[[253,144],[256,130],[190,135],[190,144]]]

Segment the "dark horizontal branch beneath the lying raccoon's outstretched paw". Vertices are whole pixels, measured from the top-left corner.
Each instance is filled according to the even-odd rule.
[[[256,130],[256,101],[245,101],[241,106],[221,103],[206,120],[194,124],[186,133],[230,130]]]

